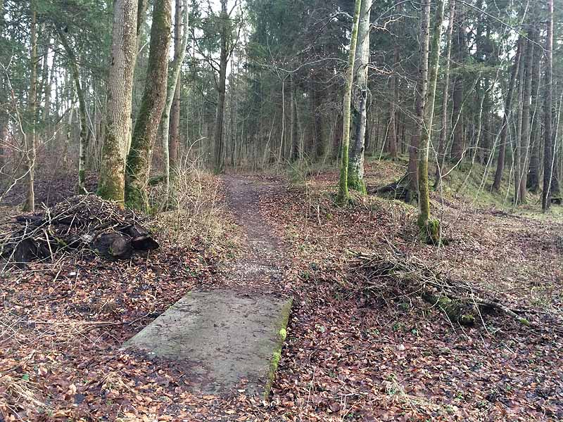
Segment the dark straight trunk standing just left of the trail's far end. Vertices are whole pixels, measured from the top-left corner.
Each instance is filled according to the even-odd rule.
[[[223,117],[224,97],[227,80],[227,37],[229,36],[229,16],[227,15],[227,0],[221,0],[221,41],[219,61],[219,84],[217,85],[217,110],[215,114],[215,132],[213,134],[213,146],[215,155],[215,173],[224,171],[224,144],[223,144]]]

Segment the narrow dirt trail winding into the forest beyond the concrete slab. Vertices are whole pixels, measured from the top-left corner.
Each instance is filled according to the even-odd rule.
[[[248,247],[246,254],[234,263],[234,271],[224,274],[227,283],[239,288],[270,285],[279,291],[286,258],[284,245],[260,212],[260,198],[281,191],[282,186],[250,177],[223,177],[227,206],[236,224],[243,229]]]

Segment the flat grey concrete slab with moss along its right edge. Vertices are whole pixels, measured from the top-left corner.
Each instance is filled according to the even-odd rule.
[[[191,291],[125,343],[151,357],[173,359],[194,390],[265,394],[285,340],[291,299],[233,290]]]

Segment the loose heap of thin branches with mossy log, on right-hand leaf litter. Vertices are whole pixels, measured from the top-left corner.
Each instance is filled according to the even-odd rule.
[[[450,321],[471,326],[483,314],[497,310],[530,326],[521,311],[510,309],[474,286],[450,278],[422,260],[398,251],[370,254],[357,252],[351,271],[363,280],[363,290],[396,297],[419,297],[445,312]],[[386,298],[384,298],[386,299]]]

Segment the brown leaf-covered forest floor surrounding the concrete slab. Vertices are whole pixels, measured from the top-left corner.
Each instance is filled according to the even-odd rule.
[[[402,168],[370,163],[368,187]],[[160,250],[130,262],[69,255],[4,271],[0,421],[561,420],[563,224],[445,186],[432,205],[449,243],[436,248],[419,243],[410,205],[369,196],[337,207],[336,179],[227,176],[213,236],[180,245],[162,232]],[[390,249],[528,309],[532,326],[493,312],[462,327],[350,276],[355,251]],[[269,402],[243,383],[202,397],[172,362],[120,350],[194,287],[293,296]]]

